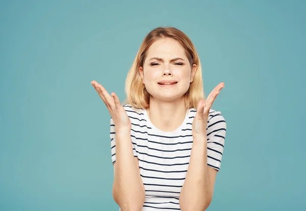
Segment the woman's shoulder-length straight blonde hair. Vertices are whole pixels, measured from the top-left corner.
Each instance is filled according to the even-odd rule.
[[[197,65],[197,71],[194,75],[193,82],[190,83],[189,89],[185,93],[186,108],[196,108],[198,101],[204,98],[200,59],[190,38],[179,29],[173,27],[155,28],[150,31],[142,41],[136,58],[126,77],[125,93],[127,98],[123,104],[131,104],[134,108],[146,109],[149,107],[150,94],[142,83],[139,67],[143,66],[147,51],[151,44],[161,38],[172,38],[178,41],[185,49],[191,67],[193,64]]]

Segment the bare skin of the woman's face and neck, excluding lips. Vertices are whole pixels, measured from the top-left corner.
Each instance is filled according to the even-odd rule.
[[[152,59],[156,57],[162,60]],[[181,59],[170,62],[175,58]],[[193,81],[195,72],[196,65],[191,67],[184,48],[173,39],[157,40],[148,49],[139,73],[146,90],[150,93],[147,113],[152,124],[158,129],[171,132],[184,121],[187,111],[184,94]],[[175,80],[178,83],[174,87],[160,87],[158,82],[162,80]]]

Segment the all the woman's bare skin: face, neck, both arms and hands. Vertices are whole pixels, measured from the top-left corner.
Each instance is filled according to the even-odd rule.
[[[151,59],[155,57],[161,60]],[[181,59],[170,61],[174,58]],[[193,81],[196,71],[197,66],[189,63],[184,48],[179,42],[163,38],[150,46],[144,65],[139,68],[139,73],[151,95],[147,109],[150,121],[160,130],[173,131],[184,121],[186,115],[184,94]],[[160,87],[158,82],[161,80],[176,80],[178,83],[174,87]],[[114,164],[114,199],[124,211],[141,210],[144,186],[139,176],[138,158],[132,153],[131,139],[126,138],[131,131],[130,118],[114,92],[109,95],[106,89],[96,81],[92,81],[91,84],[106,104],[116,126],[117,161]],[[197,112],[192,124],[193,146],[180,195],[182,211],[206,210],[213,197],[217,170],[207,166],[206,128],[209,110],[223,87],[224,83],[221,82],[211,91],[207,99],[201,99],[197,104]],[[137,197],[129,197],[131,195]]]

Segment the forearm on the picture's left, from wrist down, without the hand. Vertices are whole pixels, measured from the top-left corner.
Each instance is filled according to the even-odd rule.
[[[116,131],[113,197],[122,211],[140,211],[145,198],[138,158],[133,155],[131,143],[130,131]]]

